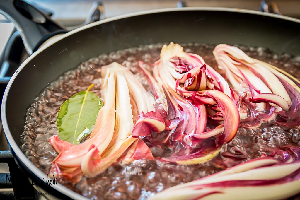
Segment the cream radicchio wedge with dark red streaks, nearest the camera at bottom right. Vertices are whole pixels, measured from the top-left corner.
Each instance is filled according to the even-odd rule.
[[[284,199],[300,190],[300,162],[258,158],[213,175],[177,185],[150,197],[161,199]],[[255,191],[255,192],[254,192]]]

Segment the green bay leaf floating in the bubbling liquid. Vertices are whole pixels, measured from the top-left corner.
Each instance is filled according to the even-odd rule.
[[[61,104],[56,119],[61,140],[78,145],[93,130],[103,103],[96,94],[89,91],[92,86],[93,84]]]

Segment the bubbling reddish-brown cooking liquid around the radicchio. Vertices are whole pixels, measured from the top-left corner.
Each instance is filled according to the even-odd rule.
[[[129,67],[145,88],[147,79],[137,68],[137,61],[145,61],[152,71],[152,64],[159,59],[163,44],[142,46],[100,55],[78,67],[62,74],[47,85],[33,100],[25,113],[22,127],[21,149],[24,154],[45,174],[49,172],[53,159],[58,155],[48,139],[58,134],[56,117],[61,104],[79,91],[90,91],[101,97],[101,66],[115,61]],[[196,53],[207,64],[216,69],[212,50],[215,45],[185,44],[185,52]],[[268,49],[235,45],[250,57],[268,62],[300,78],[300,56],[274,54]],[[190,182],[231,167],[241,162],[270,154],[272,149],[284,145],[300,146],[300,126],[286,128],[277,126],[275,121],[262,121],[262,126],[254,130],[240,128],[235,138],[223,145],[220,154],[213,160],[198,165],[172,165],[155,160],[136,160],[131,164],[118,164],[109,167],[105,173],[93,178],[82,177],[74,187],[70,183],[61,183],[75,192],[90,199],[147,199],[168,187]],[[145,142],[154,138],[145,138]],[[154,156],[166,155],[160,145],[152,145]],[[226,166],[224,163],[226,162]]]

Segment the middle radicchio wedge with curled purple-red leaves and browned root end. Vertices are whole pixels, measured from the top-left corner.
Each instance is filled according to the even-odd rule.
[[[171,145],[176,145],[177,142],[183,145],[169,158],[162,159],[168,160],[167,162],[192,164],[204,162],[208,158],[211,159],[211,155],[216,156],[217,152],[211,150],[211,148],[220,148],[221,144],[229,142],[237,131],[236,122],[238,127],[239,121],[238,108],[240,106],[236,95],[225,79],[210,66],[206,65],[199,55],[186,53],[180,45],[174,43],[163,46],[161,59],[155,63],[153,74],[158,83],[165,89],[167,97],[168,118],[171,121],[170,128],[173,129],[167,135],[167,137],[170,137],[169,142]],[[206,94],[207,88],[211,90],[212,96]],[[225,118],[228,127],[224,126],[225,132],[219,134],[223,132],[223,130],[220,131],[220,127],[217,127],[224,121],[221,112],[228,111],[226,108],[219,108],[220,105],[223,107],[225,105],[219,99],[223,98],[222,94],[226,97],[225,100],[222,99],[223,101],[230,100],[230,105],[227,106],[229,107],[228,110],[234,107],[234,110],[229,112],[229,118],[230,120],[233,118],[234,123],[233,126],[232,124],[228,126],[229,118]],[[215,97],[218,95],[220,97]],[[216,112],[207,108],[209,106],[215,106],[213,107],[214,110],[221,111],[216,116],[221,122],[214,121],[214,123],[210,124],[213,128],[217,127],[218,133],[208,130],[211,132],[202,135],[205,136],[204,139],[208,136],[212,137],[212,139],[207,139],[210,140],[210,143],[212,142],[211,145],[203,146],[204,139],[197,139],[191,136],[205,133],[208,111],[210,115],[216,115]],[[235,116],[232,115],[233,113]],[[214,136],[218,139],[214,140]],[[208,157],[203,154],[205,150],[202,148],[210,149],[208,151],[211,153],[208,153],[209,155],[206,154]],[[180,159],[182,159],[182,162]]]

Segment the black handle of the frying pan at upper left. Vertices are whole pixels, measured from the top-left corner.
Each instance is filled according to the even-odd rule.
[[[23,0],[0,0],[0,14],[15,25],[29,55],[50,37],[67,32],[61,25]]]

